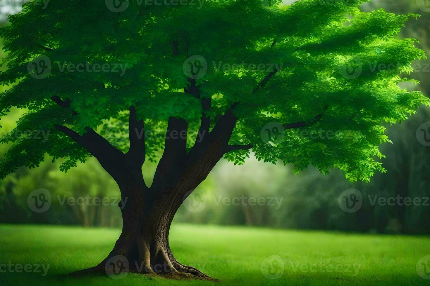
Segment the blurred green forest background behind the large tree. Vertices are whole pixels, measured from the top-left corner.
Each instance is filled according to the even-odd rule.
[[[292,2],[286,0],[286,3]],[[7,24],[7,14],[20,11],[22,0],[0,1],[0,21]],[[410,21],[399,37],[420,39],[419,47],[430,54],[430,1],[429,0],[372,0],[362,10],[383,8],[393,13],[417,13],[421,18]],[[0,55],[0,57],[3,56]],[[430,61],[417,64],[411,76],[420,85],[405,86],[419,89],[430,95]],[[4,90],[5,87],[0,87]],[[22,114],[13,110],[2,120],[0,135],[9,132],[15,120]],[[381,147],[387,155],[382,159],[385,174],[375,174],[366,183],[351,184],[338,170],[322,175],[315,169],[306,169],[295,175],[291,166],[272,165],[250,158],[243,166],[234,166],[223,160],[199,187],[199,198],[206,207],[199,212],[179,209],[175,221],[187,223],[267,226],[292,229],[331,229],[375,233],[430,233],[430,206],[378,205],[368,199],[374,195],[383,197],[429,197],[430,177],[428,162],[430,146],[422,145],[417,137],[418,126],[430,121],[430,109],[421,107],[415,116],[388,129],[393,145]],[[0,154],[7,145],[0,146]],[[61,205],[57,195],[65,197],[118,197],[119,189],[114,181],[98,165],[94,158],[66,173],[59,171],[61,162],[55,164],[47,157],[39,168],[20,168],[15,174],[0,181],[0,223],[76,224],[87,227],[119,227],[120,209],[113,205]],[[144,165],[144,177],[148,184],[155,171],[155,164]],[[28,195],[37,189],[49,190],[52,206],[44,213],[35,213],[27,205]],[[363,204],[359,211],[346,213],[338,204],[338,196],[347,189],[355,188],[362,193]],[[273,205],[235,205],[223,203],[223,199],[241,197],[273,199]],[[279,202],[279,203],[277,203]]]

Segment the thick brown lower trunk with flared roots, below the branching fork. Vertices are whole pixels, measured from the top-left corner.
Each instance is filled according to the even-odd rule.
[[[173,217],[191,193],[190,190],[198,185],[190,184],[185,178],[179,180],[174,187],[158,191],[154,190],[155,187],[148,189],[141,174],[119,184],[123,201],[127,199],[125,205],[119,205],[123,217],[121,235],[102,262],[74,274],[115,272],[119,269],[114,269],[118,264],[126,267],[123,268],[125,271],[142,274],[215,280],[194,267],[179,263],[169,246],[169,229]]]

